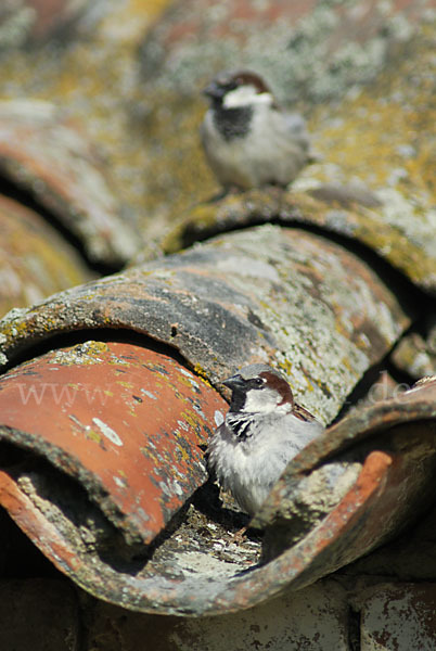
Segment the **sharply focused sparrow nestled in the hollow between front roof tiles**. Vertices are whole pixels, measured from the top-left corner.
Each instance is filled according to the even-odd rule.
[[[267,365],[246,366],[222,384],[232,391],[230,408],[208,445],[208,467],[253,515],[288,461],[324,426],[294,401],[286,380]]]

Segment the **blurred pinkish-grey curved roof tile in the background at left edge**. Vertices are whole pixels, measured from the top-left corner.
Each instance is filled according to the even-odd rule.
[[[85,130],[40,100],[0,102],[0,173],[51,210],[90,260],[125,264],[138,234]]]

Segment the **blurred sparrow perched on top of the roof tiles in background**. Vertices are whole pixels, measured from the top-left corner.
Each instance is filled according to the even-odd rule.
[[[210,107],[201,126],[202,144],[225,191],[285,187],[316,159],[305,119],[279,107],[256,73],[221,73],[203,92]]]

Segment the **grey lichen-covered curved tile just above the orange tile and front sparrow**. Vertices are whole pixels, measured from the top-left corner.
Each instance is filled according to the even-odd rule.
[[[211,382],[269,360],[303,405],[330,421],[410,318],[352,253],[298,229],[264,226],[12,311],[0,324],[0,352],[13,363],[59,333],[130,329],[170,345]]]

